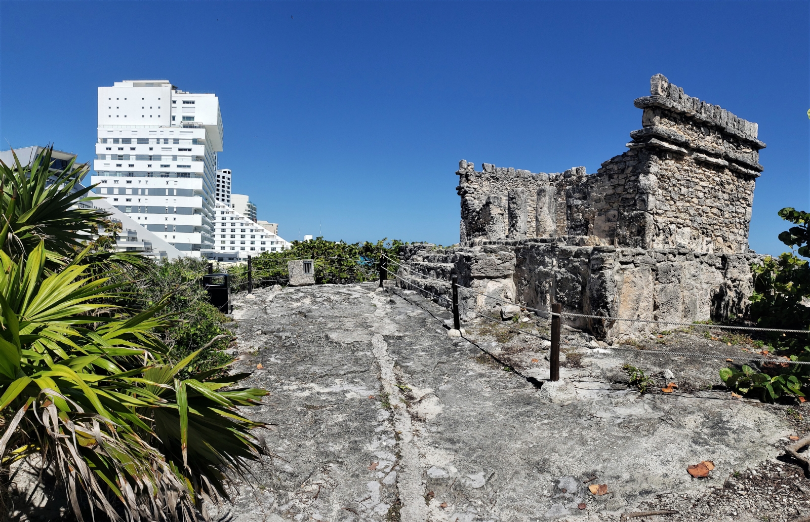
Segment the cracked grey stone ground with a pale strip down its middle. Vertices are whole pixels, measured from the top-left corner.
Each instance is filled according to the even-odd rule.
[[[806,428],[804,409],[730,402],[710,389],[717,367],[610,349],[570,349],[563,379],[538,388],[548,378],[541,341],[486,323],[451,338],[444,309],[374,286],[237,296],[239,370],[252,368],[249,385],[271,392],[248,413],[278,425],[266,439],[283,460],[255,469],[220,516],[511,522],[673,509],[635,520],[773,521],[810,512],[810,481],[776,460]],[[679,351],[740,353],[676,335]],[[654,376],[671,370],[680,390],[640,395],[623,383],[625,362]],[[686,468],[701,460],[716,468],[694,479]],[[594,484],[608,494],[590,494]]]

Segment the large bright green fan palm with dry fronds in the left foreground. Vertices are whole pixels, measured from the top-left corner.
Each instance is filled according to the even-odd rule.
[[[82,497],[130,520],[193,519],[203,498],[227,498],[228,473],[266,454],[237,406],[266,392],[222,389],[241,375],[177,379],[195,353],[164,362],[160,306],[115,314],[116,285],[79,263],[44,277],[44,264],[41,243],[24,265],[0,252],[2,465],[40,455],[80,520]]]

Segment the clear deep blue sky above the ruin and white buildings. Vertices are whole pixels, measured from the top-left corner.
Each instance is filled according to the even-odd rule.
[[[810,210],[808,2],[0,2],[0,139],[90,160],[96,88],[220,97],[233,189],[289,240],[458,242],[458,160],[599,164],[663,73],[758,122],[751,246]]]

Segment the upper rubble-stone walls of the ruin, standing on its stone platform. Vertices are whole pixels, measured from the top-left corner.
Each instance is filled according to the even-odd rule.
[[[663,75],[650,92],[635,101],[642,129],[629,151],[595,174],[489,164],[476,172],[460,161],[461,241],[578,236],[593,246],[747,252],[765,147],[757,124],[684,95]]]

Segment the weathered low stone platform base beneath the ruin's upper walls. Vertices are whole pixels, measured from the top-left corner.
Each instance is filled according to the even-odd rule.
[[[691,323],[744,314],[752,292],[753,254],[681,249],[573,246],[544,240],[478,241],[473,246],[403,247],[401,285],[450,298],[458,273],[463,315],[497,316],[505,302],[551,310],[649,321]],[[433,280],[437,278],[441,281]],[[469,291],[467,289],[472,290]],[[484,295],[480,295],[484,294]],[[570,319],[599,339],[667,329],[666,323]]]

